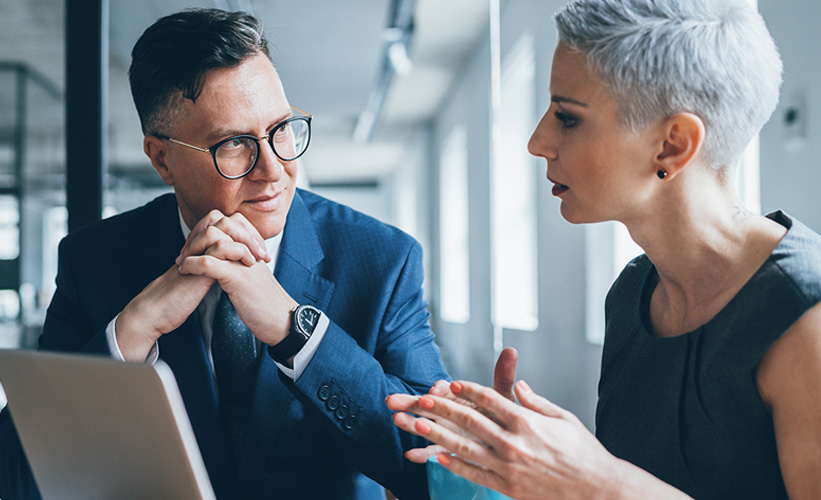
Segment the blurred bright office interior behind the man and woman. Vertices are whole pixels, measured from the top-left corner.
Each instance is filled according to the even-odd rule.
[[[514,346],[519,376],[592,427],[604,294],[636,250],[615,225],[566,223],[526,151],[548,107],[563,3],[0,0],[0,346],[36,346],[72,217],[79,226],[169,191],[142,153],[128,89],[137,37],[186,6],[247,10],[266,25],[290,102],[315,116],[304,184],[422,243],[454,377],[490,383],[496,353]],[[740,190],[751,208],[821,231],[821,3],[759,9],[785,81]],[[83,45],[100,27],[100,48]]]

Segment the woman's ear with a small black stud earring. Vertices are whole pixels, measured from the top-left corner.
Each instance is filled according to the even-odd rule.
[[[677,113],[662,124],[663,142],[655,158],[657,171],[673,177],[689,165],[704,144],[704,122],[693,113]]]

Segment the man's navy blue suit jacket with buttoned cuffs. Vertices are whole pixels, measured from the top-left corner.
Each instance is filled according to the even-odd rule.
[[[427,498],[426,444],[391,422],[385,397],[447,378],[422,297],[419,245],[401,231],[298,190],[276,278],[331,320],[300,378],[259,357],[245,455],[233,465],[196,311],[159,341],[174,371],[214,490],[224,498]],[[105,327],[168,270],[184,241],[173,195],[67,236],[40,348],[108,353]],[[0,497],[37,498],[10,418],[0,416]]]

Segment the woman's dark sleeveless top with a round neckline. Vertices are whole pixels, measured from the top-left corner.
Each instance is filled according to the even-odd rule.
[[[780,211],[768,217],[787,234],[698,330],[650,333],[655,268],[644,255],[622,271],[605,303],[596,435],[615,456],[699,500],[787,498],[756,367],[821,301],[821,237]]]

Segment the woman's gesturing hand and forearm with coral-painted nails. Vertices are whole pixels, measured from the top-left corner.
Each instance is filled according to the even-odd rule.
[[[482,411],[432,395],[394,395],[387,403],[400,412],[397,426],[455,453],[439,455],[440,463],[474,482],[519,500],[689,498],[614,457],[575,415],[523,381],[515,386],[522,406],[472,382],[451,390]]]

